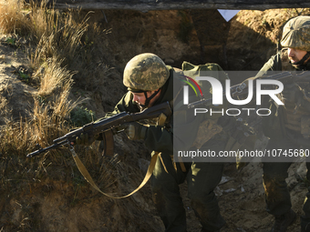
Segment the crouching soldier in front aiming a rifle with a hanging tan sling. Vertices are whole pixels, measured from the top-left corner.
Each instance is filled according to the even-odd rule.
[[[216,64],[211,64],[207,68],[212,71],[222,70]],[[120,99],[115,110],[108,113],[106,117],[124,111],[137,113],[146,107],[171,102],[174,99],[173,85],[180,89],[183,86],[179,78],[184,77],[179,76],[179,72],[180,69],[177,71],[171,66],[166,66],[157,55],[141,54],[133,57],[125,67],[123,78],[123,83],[129,91]],[[231,118],[212,118],[208,121],[205,115],[201,114],[195,119],[192,119],[192,116],[184,117],[187,118],[184,121],[184,126],[187,127],[183,128],[188,132],[187,144],[198,143],[200,148],[207,147],[217,152],[223,150],[229,138],[226,131],[232,129]],[[176,123],[173,125],[173,117],[169,117],[171,120],[165,121],[161,126],[154,126],[152,122],[149,126],[135,122],[120,126],[119,129],[124,129],[129,139],[143,139],[147,147],[161,153],[151,177],[151,187],[153,201],[163,221],[165,231],[186,231],[186,213],[179,188],[185,180],[188,185],[188,196],[191,198],[191,207],[202,224],[202,231],[220,231],[225,221],[220,214],[213,190],[222,179],[223,163],[173,162],[171,157],[173,126]],[[201,125],[207,125],[209,128],[207,131],[201,130],[203,137],[211,137],[209,141],[195,139]],[[205,135],[209,132],[212,135]],[[89,138],[89,140],[91,141],[83,141],[82,144],[89,144],[94,138]],[[77,141],[77,143],[81,142]]]

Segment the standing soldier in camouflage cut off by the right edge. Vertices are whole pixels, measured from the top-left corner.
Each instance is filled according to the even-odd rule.
[[[284,49],[272,56],[257,76],[268,75],[269,71],[310,70],[310,16],[297,16],[289,20],[284,25],[281,45]],[[310,118],[309,90],[308,83],[305,86],[296,83],[284,85],[284,106],[277,106],[272,100],[269,102],[272,115],[263,117],[264,135],[270,137],[267,149],[310,148],[309,135],[302,129],[306,126],[307,118]],[[296,217],[285,182],[290,165],[290,162],[263,163],[267,212],[275,217],[273,232],[287,231]],[[310,180],[310,163],[306,163],[306,166],[306,177]],[[310,188],[308,190],[303,207],[305,216],[301,217],[303,232],[310,231]]]

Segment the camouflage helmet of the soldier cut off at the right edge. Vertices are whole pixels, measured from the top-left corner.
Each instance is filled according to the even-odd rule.
[[[297,16],[283,29],[281,45],[310,52],[310,16]]]

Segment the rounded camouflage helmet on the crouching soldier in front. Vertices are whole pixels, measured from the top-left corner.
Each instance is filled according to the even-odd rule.
[[[123,84],[134,93],[153,91],[163,86],[169,71],[159,56],[144,53],[134,56],[125,67]]]

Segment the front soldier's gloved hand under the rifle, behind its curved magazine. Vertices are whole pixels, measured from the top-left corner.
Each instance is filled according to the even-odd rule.
[[[124,130],[130,140],[144,139],[147,135],[149,127],[140,125],[137,122],[123,124],[118,127],[118,130]]]

